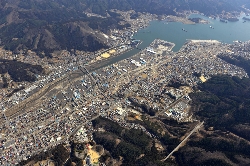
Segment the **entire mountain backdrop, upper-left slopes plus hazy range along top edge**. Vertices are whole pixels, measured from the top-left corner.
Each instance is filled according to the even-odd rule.
[[[198,10],[207,15],[240,11],[246,0],[1,0],[0,44],[6,49],[52,52],[60,49],[95,51],[106,48],[107,33],[119,25],[119,15],[87,17],[86,12],[107,16],[110,9],[171,14]],[[235,5],[237,4],[237,5]],[[98,25],[98,29],[91,25]]]

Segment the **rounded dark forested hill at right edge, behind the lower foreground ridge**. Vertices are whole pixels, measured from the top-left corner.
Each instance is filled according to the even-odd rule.
[[[239,132],[239,125],[247,124],[250,131],[250,79],[230,76],[213,76],[199,85],[201,92],[191,95],[194,110],[199,118],[222,131],[239,133],[250,141],[248,132]]]

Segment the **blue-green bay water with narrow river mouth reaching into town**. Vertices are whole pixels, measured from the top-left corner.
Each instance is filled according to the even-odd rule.
[[[187,39],[211,39],[228,44],[233,43],[235,40],[248,41],[250,40],[250,21],[243,23],[242,17],[244,16],[242,15],[237,22],[223,23],[218,18],[214,20],[199,14],[192,14],[190,18],[199,17],[210,22],[209,24],[194,25],[180,22],[151,21],[147,28],[139,30],[134,34],[133,38],[143,41],[139,45],[141,49],[148,47],[157,38],[175,43],[174,52],[179,51]],[[214,29],[210,28],[210,26],[214,27]],[[183,31],[182,28],[187,32]],[[108,65],[133,56],[139,51],[138,49],[128,51],[111,59]]]

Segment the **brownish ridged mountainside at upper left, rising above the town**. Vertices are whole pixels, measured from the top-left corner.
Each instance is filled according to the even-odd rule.
[[[61,49],[95,51],[107,48],[101,32],[123,28],[118,17],[87,17],[83,11],[50,1],[14,0],[13,4],[1,4],[1,43],[15,52],[30,49],[48,55]],[[91,28],[90,23],[99,26]]]

